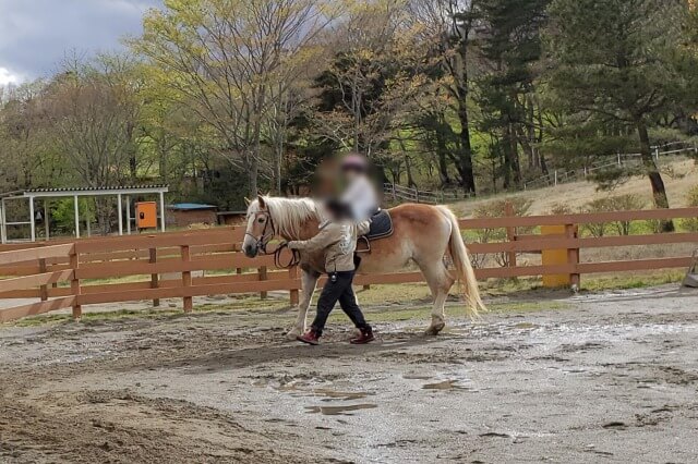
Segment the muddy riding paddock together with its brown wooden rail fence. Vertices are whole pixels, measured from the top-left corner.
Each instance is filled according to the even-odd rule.
[[[688,208],[461,227],[507,228],[505,241],[471,246],[510,257],[478,269],[481,279],[583,282],[593,272],[685,268],[696,242],[693,233],[585,237],[583,221],[696,216]],[[565,233],[517,229],[546,224]],[[421,334],[425,289],[410,283],[419,276],[377,276],[358,283],[370,285],[359,298],[378,341],[349,345],[336,312],[323,344],[310,347],[284,339],[296,316],[296,270],[245,260],[239,234],[4,248],[0,461],[690,462],[698,453],[696,290],[509,292],[489,295],[479,320],[452,298],[446,330],[430,338]],[[639,256],[586,256],[621,245]],[[679,247],[649,257],[650,245]],[[522,259],[545,249],[567,251],[566,262]]]

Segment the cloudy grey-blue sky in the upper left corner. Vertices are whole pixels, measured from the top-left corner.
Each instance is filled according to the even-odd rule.
[[[48,77],[68,54],[122,49],[163,0],[0,0],[0,86]]]

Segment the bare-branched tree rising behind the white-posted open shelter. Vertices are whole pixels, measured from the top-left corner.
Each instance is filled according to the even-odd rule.
[[[85,186],[123,185],[137,175],[136,89],[125,70],[112,58],[73,61],[44,91],[46,119],[61,159]],[[111,203],[100,198],[97,212],[103,232],[109,233]]]

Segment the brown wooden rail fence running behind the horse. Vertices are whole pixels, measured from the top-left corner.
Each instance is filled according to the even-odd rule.
[[[698,208],[619,211],[585,215],[530,216],[461,219],[468,230],[506,230],[506,240],[470,243],[471,254],[504,254],[507,267],[477,269],[479,279],[568,274],[579,283],[581,274],[684,268],[690,254],[669,258],[583,262],[585,249],[647,246],[652,244],[696,244],[698,233],[666,233],[581,237],[580,225],[614,221],[697,218]],[[518,234],[518,228],[564,225],[557,235]],[[154,235],[131,235],[72,241],[68,243],[15,244],[0,247],[0,301],[37,298],[37,303],[0,309],[0,322],[21,317],[72,308],[80,317],[82,306],[104,303],[182,298],[185,312],[192,298],[202,295],[288,291],[298,303],[299,270],[277,270],[272,256],[246,258],[240,252],[244,231],[216,228]],[[567,251],[567,262],[554,266],[521,266],[517,255],[547,249]],[[123,281],[128,278],[128,281]],[[115,281],[120,279],[121,281]],[[358,276],[358,285],[421,282],[420,272]]]

